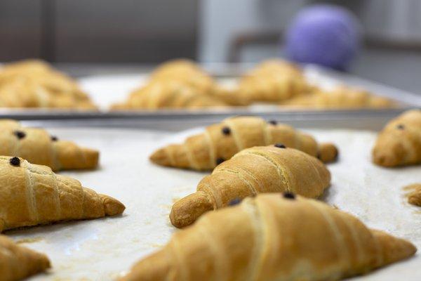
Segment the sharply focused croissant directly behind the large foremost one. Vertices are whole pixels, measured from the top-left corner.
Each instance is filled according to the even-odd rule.
[[[294,192],[319,197],[330,184],[330,173],[315,157],[283,145],[241,150],[197,185],[197,191],[175,202],[170,219],[182,228],[206,211],[262,192]]]

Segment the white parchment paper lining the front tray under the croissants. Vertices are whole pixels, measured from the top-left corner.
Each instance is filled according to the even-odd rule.
[[[179,133],[147,129],[85,128],[53,124],[49,131],[97,148],[97,171],[67,171],[84,186],[111,195],[126,205],[123,216],[75,221],[8,231],[22,245],[42,251],[53,269],[38,280],[115,280],[135,261],[159,249],[176,231],[168,214],[180,197],[193,192],[206,173],[168,169],[149,162],[155,148],[182,141],[203,127]],[[35,124],[36,122],[25,122]],[[52,123],[39,122],[51,126]],[[344,125],[346,125],[344,123]],[[411,240],[421,249],[421,211],[406,203],[404,185],[421,181],[420,166],[383,169],[370,162],[373,131],[305,129],[318,141],[332,141],[340,150],[339,162],[329,164],[332,185],[322,200],[359,216],[372,228]],[[421,280],[421,256],[351,280]]]

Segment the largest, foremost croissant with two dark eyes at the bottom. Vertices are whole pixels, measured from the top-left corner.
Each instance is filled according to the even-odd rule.
[[[206,214],[121,281],[340,280],[415,251],[322,202],[266,194]]]

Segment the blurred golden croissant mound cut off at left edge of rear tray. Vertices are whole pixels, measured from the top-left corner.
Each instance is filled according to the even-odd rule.
[[[39,60],[0,69],[0,107],[96,108],[76,81]]]

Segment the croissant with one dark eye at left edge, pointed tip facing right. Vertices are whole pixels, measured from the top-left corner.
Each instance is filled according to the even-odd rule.
[[[121,202],[54,174],[47,166],[0,156],[0,232],[123,213]]]

